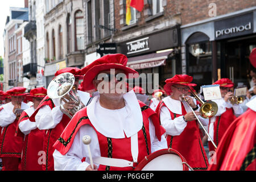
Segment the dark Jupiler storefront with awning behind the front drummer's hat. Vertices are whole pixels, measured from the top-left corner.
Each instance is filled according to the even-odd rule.
[[[127,55],[127,67],[135,69],[140,75],[148,75],[147,84],[156,82],[163,87],[164,80],[181,73],[180,28],[175,26],[131,39],[117,44],[117,52]],[[152,77],[150,77],[151,73]],[[156,75],[158,80],[154,80]],[[134,79],[134,85],[142,84]],[[148,90],[147,90],[148,91]]]

